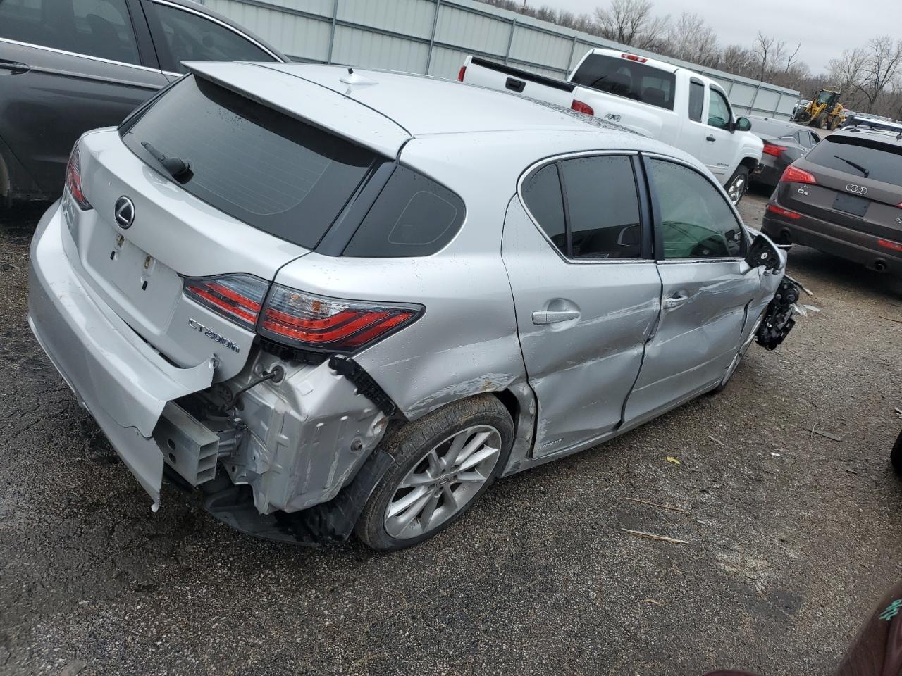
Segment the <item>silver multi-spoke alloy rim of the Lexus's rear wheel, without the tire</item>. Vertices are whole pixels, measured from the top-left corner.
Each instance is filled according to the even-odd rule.
[[[436,529],[464,509],[492,477],[502,437],[474,425],[426,452],[400,481],[385,510],[385,531],[398,539]]]

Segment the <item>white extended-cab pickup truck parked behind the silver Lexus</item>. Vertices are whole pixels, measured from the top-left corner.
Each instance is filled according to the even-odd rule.
[[[748,118],[734,117],[711,78],[617,50],[591,50],[566,81],[468,56],[458,79],[530,96],[621,124],[704,162],[737,204],[763,144]]]

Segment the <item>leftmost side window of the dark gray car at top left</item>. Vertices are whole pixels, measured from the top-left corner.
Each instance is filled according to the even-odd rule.
[[[140,62],[125,0],[0,0],[0,38]]]

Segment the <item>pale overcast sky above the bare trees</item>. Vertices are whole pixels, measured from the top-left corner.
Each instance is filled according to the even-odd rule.
[[[802,43],[799,58],[816,73],[827,69],[827,62],[842,50],[861,47],[880,34],[896,36],[900,25],[899,0],[826,0],[822,3],[797,0],[654,0],[657,14],[676,17],[695,12],[704,17],[723,44],[750,47],[755,35],[763,31],[787,46]],[[607,6],[607,0],[529,0],[529,5],[548,5],[576,14],[592,14],[594,8]],[[856,11],[855,7],[867,7]]]

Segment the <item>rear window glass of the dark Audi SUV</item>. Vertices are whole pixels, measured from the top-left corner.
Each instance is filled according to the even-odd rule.
[[[902,186],[902,146],[893,143],[894,138],[888,137],[889,142],[883,143],[831,135],[808,151],[805,160],[858,178]]]

